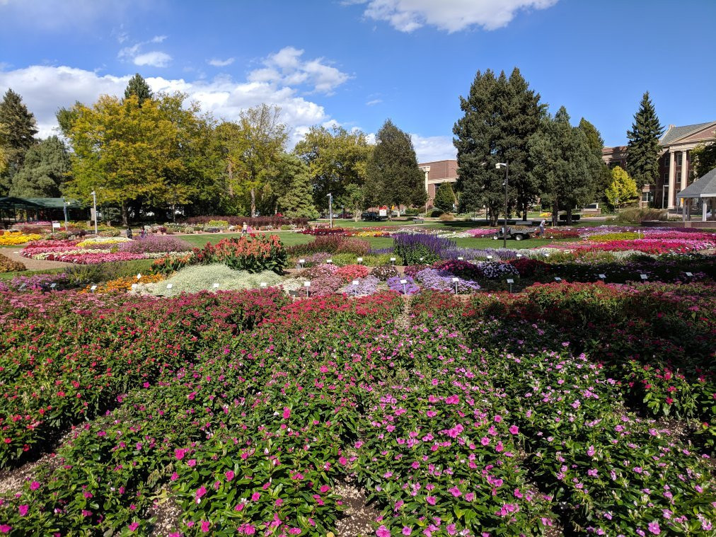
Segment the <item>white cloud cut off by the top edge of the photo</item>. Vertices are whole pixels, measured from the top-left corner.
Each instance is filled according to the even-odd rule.
[[[546,9],[557,0],[362,0],[368,4],[364,15],[387,21],[400,32],[422,26],[436,26],[447,32],[460,32],[471,26],[494,30],[507,26],[517,11]]]

